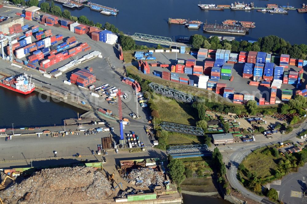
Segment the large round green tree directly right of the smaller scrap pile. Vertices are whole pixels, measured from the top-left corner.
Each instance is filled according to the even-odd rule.
[[[167,168],[171,179],[179,186],[185,180],[185,165],[179,159],[172,159]]]

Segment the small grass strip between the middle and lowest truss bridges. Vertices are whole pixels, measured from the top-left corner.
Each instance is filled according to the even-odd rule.
[[[181,134],[177,132],[168,132],[169,139],[168,145],[177,145],[177,144],[204,144],[204,137],[189,135],[189,134]]]

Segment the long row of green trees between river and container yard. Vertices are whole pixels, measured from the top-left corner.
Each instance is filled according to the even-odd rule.
[[[205,36],[195,34],[191,36],[191,43],[193,48],[207,48],[207,49],[226,49],[231,52],[239,51],[263,51],[271,54],[288,54],[291,58],[306,59],[307,45],[306,44],[294,44],[291,45],[288,41],[278,36],[265,36],[259,38],[254,43],[249,43],[246,40],[231,42],[227,40],[220,41],[217,36],[206,38]]]

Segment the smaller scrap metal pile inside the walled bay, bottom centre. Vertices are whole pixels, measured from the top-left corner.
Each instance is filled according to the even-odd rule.
[[[163,185],[164,176],[152,168],[132,169],[129,173],[122,174],[124,180],[138,187],[148,187],[151,190],[155,186]]]

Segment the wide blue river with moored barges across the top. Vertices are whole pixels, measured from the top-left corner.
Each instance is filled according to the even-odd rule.
[[[102,4],[119,10],[117,16],[106,16],[97,11],[91,10],[89,7],[84,7],[81,10],[72,10],[68,7],[60,6],[62,10],[68,9],[73,16],[85,15],[89,20],[96,23],[99,21],[104,24],[109,22],[114,24],[119,30],[127,34],[143,33],[156,36],[165,36],[177,38],[179,36],[191,36],[193,34],[202,34],[204,36],[229,36],[222,34],[205,33],[202,26],[199,29],[188,29],[184,25],[168,24],[168,18],[183,18],[190,20],[199,20],[208,23],[221,24],[226,19],[237,21],[252,21],[255,22],[256,28],[251,28],[246,36],[235,36],[236,40],[257,40],[259,37],[268,35],[277,35],[289,41],[291,44],[307,43],[307,13],[298,13],[297,10],[289,10],[288,14],[270,14],[257,12],[257,9],[251,11],[234,11],[231,9],[217,10],[202,10],[197,5],[199,3],[230,5],[234,3],[231,0],[219,1],[203,1],[199,0],[176,0],[165,1],[156,0],[113,0],[100,1],[91,0],[93,3]],[[288,0],[278,1],[253,1],[255,7],[266,7],[266,4],[278,4],[278,6],[287,6]],[[248,3],[248,1],[245,1]],[[301,8],[302,3],[307,3],[302,0],[293,0],[289,2],[289,6]]]

